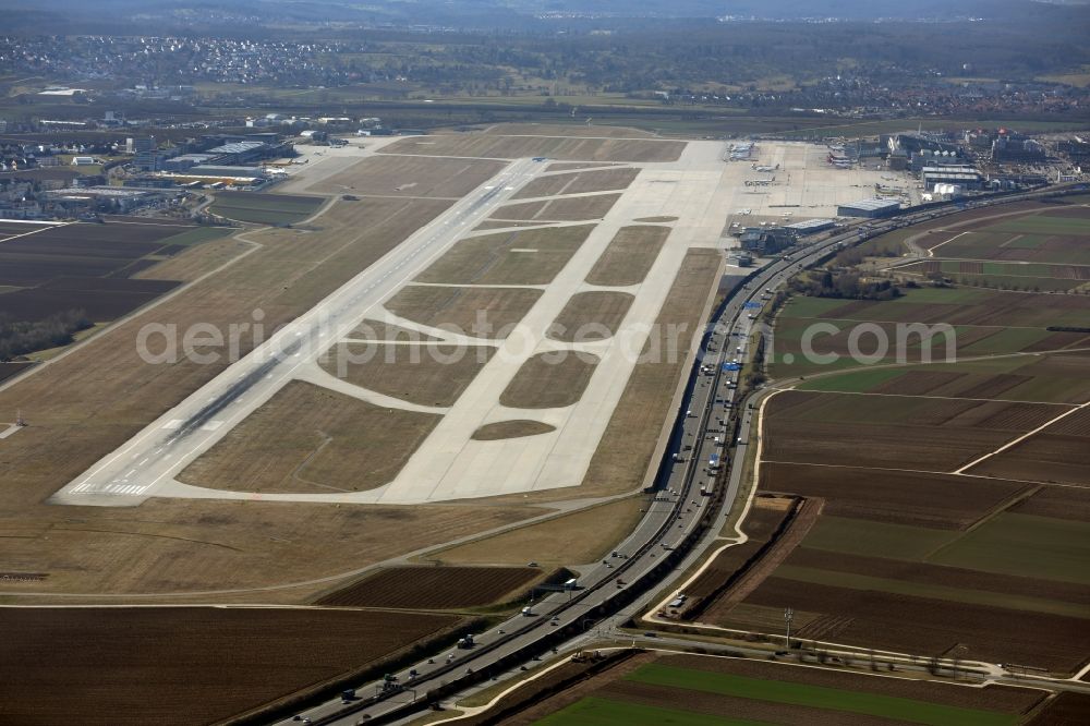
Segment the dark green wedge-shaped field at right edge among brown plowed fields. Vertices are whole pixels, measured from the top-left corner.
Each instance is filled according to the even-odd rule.
[[[927,561],[1090,584],[1090,523],[1004,512],[942,547]]]

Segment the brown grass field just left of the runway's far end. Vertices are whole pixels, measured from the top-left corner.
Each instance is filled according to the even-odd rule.
[[[499,161],[376,155],[312,184],[307,191],[358,196],[460,198],[502,168]],[[367,204],[366,201],[362,203]]]

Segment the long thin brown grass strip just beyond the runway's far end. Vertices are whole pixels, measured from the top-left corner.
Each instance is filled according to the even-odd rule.
[[[383,152],[494,159],[547,156],[562,161],[676,161],[683,149],[685,142],[674,141],[465,134],[402,138]]]

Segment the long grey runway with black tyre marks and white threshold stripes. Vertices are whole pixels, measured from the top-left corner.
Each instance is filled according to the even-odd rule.
[[[446,252],[463,232],[544,167],[531,159],[510,164],[135,438],[95,463],[55,494],[50,504],[135,506],[159,489],[180,486],[173,480],[174,474],[268,401],[301,365],[315,360],[346,336],[372,306]]]

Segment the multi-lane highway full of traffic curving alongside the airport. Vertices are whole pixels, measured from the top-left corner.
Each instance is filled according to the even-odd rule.
[[[1036,195],[1018,195],[997,202],[1019,201]],[[985,204],[988,203],[980,202],[972,206]],[[390,674],[391,680],[360,685],[355,689],[358,700],[334,699],[301,712],[298,717],[314,724],[339,725],[358,724],[364,716],[368,722],[396,717],[407,704],[422,699],[427,691],[440,685],[449,687],[464,680],[469,687],[480,679],[481,674],[499,675],[499,671],[509,667],[512,660],[537,658],[542,652],[547,652],[549,643],[561,640],[557,638],[559,630],[585,633],[606,619],[613,622],[617,618],[627,618],[640,612],[654,595],[657,583],[685,570],[701,556],[701,545],[706,544],[718,532],[738,495],[742,463],[750,445],[753,411],[748,407],[736,406],[737,386],[744,371],[725,371],[723,364],[736,358],[744,360],[752,325],[750,315],[756,312],[754,307],[747,306],[747,303],[762,304],[766,290],[780,287],[791,275],[818,263],[841,244],[957,210],[959,209],[928,209],[894,219],[874,220],[865,226],[862,233],[857,227],[848,227],[794,252],[791,258],[776,259],[754,271],[743,286],[730,293],[716,319],[710,325],[689,378],[682,408],[678,412],[678,423],[671,436],[673,445],[665,455],[667,460],[659,476],[661,486],[635,530],[617,545],[616,557],[607,557],[582,572],[579,590],[552,593],[533,604],[531,615],[519,614],[487,632],[474,633],[476,644],[472,649],[453,648],[436,654],[412,667]],[[736,431],[736,425],[738,438],[726,441],[726,436]],[[725,482],[727,487],[722,498],[700,494],[701,486],[710,487],[716,480],[714,472],[708,469],[713,453],[729,461],[724,464],[730,468],[728,475],[718,480]],[[687,557],[664,571],[659,567],[663,558],[697,532],[704,510],[712,500],[723,504],[720,511],[715,513],[704,541],[692,547]],[[643,594],[632,602],[630,592],[625,592],[630,589]],[[623,609],[620,609],[621,606]],[[618,615],[610,616],[610,613],[618,609]],[[586,636],[579,634],[567,641],[565,646],[585,640]],[[553,650],[557,649],[554,646]],[[298,722],[286,719],[280,723],[287,726]]]

